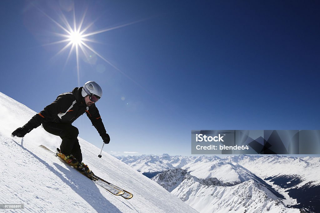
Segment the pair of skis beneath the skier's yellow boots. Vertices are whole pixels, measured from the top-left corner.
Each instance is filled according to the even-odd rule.
[[[54,153],[52,150],[48,149],[47,147],[40,145],[41,148],[44,148],[45,150],[48,150],[52,153]],[[56,156],[57,153],[54,153]],[[62,160],[60,157],[59,159],[64,162],[65,164],[67,164],[64,160]],[[122,190],[120,187],[113,185],[111,183],[109,183],[108,181],[96,176],[92,171],[88,172],[84,172],[84,171],[80,171],[78,170],[76,167],[73,167],[74,169],[76,169],[77,171],[79,171],[81,174],[83,174],[84,176],[88,177],[89,179],[91,179],[96,185],[99,185],[100,187],[102,187],[103,189],[107,190],[108,192],[112,193],[113,195],[117,195],[117,196],[122,196],[125,199],[131,199],[133,197],[132,193],[127,192],[125,190]]]

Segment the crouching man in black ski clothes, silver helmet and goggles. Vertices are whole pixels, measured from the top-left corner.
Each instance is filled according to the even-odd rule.
[[[101,97],[102,89],[99,84],[88,81],[83,87],[76,87],[72,92],[60,94],[55,101],[44,107],[23,127],[14,130],[11,135],[12,137],[23,138],[31,130],[42,124],[44,130],[60,136],[62,139],[58,156],[71,166],[90,172],[88,166],[82,162],[81,149],[77,139],[79,131],[75,126],[72,126],[72,122],[86,113],[103,142],[108,144],[110,137],[95,106],[95,103]]]

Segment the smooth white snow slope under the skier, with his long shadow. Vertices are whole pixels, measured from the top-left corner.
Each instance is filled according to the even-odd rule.
[[[154,181],[115,157],[79,138],[83,161],[98,176],[134,194],[117,197],[97,186],[51,152],[60,138],[41,127],[23,141],[11,132],[36,114],[0,92],[0,203],[24,204],[24,210],[6,212],[196,212]],[[88,121],[89,122],[89,121]]]

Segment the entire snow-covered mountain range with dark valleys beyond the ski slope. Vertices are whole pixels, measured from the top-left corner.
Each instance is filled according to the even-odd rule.
[[[199,212],[320,212],[320,158],[117,156]]]

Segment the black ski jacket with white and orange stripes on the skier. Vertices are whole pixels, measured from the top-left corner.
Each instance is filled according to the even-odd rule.
[[[82,87],[76,87],[72,92],[60,94],[55,101],[33,116],[23,128],[28,132],[40,126],[43,122],[69,123],[74,122],[80,115],[86,113],[92,125],[100,136],[106,133],[99,110],[92,104],[87,106],[81,95]]]

